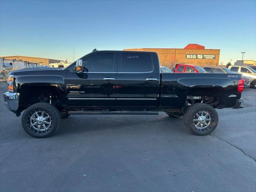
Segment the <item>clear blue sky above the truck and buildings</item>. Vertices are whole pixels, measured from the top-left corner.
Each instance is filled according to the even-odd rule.
[[[98,50],[220,49],[256,60],[256,1],[0,0],[0,56],[75,59]]]

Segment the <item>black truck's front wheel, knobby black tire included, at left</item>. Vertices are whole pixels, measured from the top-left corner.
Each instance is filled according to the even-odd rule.
[[[38,115],[36,116],[36,114],[40,114],[40,116],[38,116]],[[41,118],[41,117],[43,117],[43,121],[39,123],[38,118]],[[42,119],[40,119],[40,120],[42,120]],[[35,137],[35,138],[46,138],[46,137],[51,136],[52,134],[54,134],[57,131],[59,124],[60,124],[60,112],[52,104],[43,103],[43,102],[36,103],[36,104],[29,106],[23,112],[21,122],[22,122],[23,129],[30,136]],[[36,122],[36,124],[35,124],[35,122]],[[45,122],[45,124],[43,122]],[[46,122],[47,122],[47,124],[46,124]],[[32,124],[35,124],[35,125],[31,126]],[[40,126],[38,128],[39,124],[40,124]],[[44,125],[44,130],[40,129],[41,124]]]

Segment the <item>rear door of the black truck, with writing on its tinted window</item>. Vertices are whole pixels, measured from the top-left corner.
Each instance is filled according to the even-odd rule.
[[[117,106],[158,107],[160,68],[152,53],[120,52],[116,81]]]

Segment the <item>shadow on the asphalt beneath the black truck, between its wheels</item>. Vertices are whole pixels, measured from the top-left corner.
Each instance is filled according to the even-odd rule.
[[[151,117],[151,118],[150,118]],[[67,119],[62,119],[60,128],[55,136],[70,134],[82,134],[88,132],[122,129],[161,129],[190,134],[184,124],[183,118],[171,118],[169,116],[158,115],[72,115]],[[171,133],[170,133],[171,134]]]

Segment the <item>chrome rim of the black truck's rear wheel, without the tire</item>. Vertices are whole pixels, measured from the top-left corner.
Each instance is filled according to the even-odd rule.
[[[212,117],[209,112],[199,111],[196,113],[193,119],[193,124],[195,128],[199,131],[208,130],[212,124]]]

